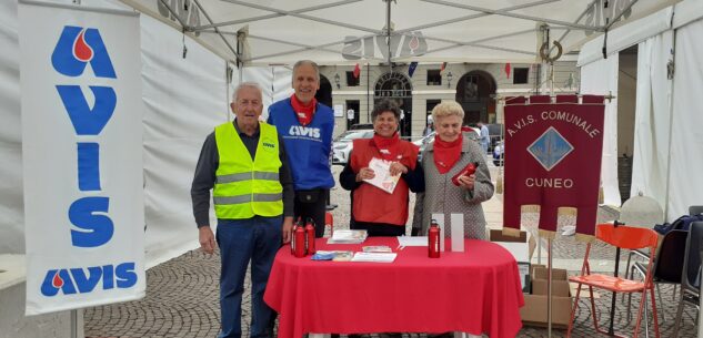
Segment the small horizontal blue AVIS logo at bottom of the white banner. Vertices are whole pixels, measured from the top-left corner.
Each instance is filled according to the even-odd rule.
[[[113,265],[50,269],[41,284],[41,294],[53,297],[91,293],[96,287],[109,290],[129,288],[137,284],[135,264],[125,262]]]

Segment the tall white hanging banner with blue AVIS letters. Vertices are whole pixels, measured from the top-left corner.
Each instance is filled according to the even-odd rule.
[[[20,1],[27,315],[144,296],[139,17]]]

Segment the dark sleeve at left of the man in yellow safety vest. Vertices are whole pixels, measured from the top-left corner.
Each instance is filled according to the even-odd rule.
[[[190,197],[193,203],[193,216],[198,227],[210,225],[210,190],[214,186],[215,171],[220,162],[218,145],[212,132],[200,150],[200,157],[195,166]]]

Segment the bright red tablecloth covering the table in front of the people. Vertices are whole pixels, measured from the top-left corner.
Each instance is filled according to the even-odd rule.
[[[428,257],[426,247],[396,250],[395,237],[318,249],[361,250],[388,245],[395,262],[314,262],[290,246],[273,263],[264,301],[280,314],[279,337],[305,332],[444,332],[515,337],[524,305],[518,265],[503,247],[466,239],[464,253]]]

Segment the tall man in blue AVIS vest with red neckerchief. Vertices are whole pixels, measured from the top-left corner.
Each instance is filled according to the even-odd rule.
[[[312,218],[315,236],[324,234],[324,213],[329,190],[334,186],[330,154],[334,114],[319,103],[320,69],[310,60],[293,65],[295,93],[269,107],[268,122],[283,139],[293,176],[295,218]]]

